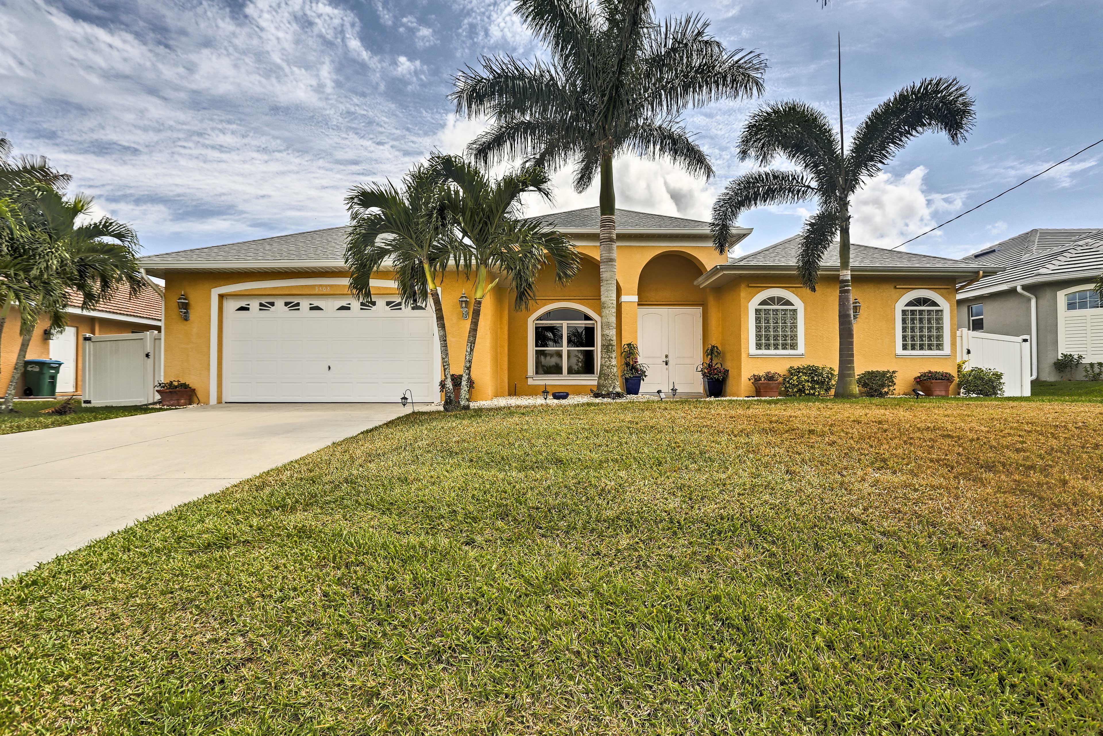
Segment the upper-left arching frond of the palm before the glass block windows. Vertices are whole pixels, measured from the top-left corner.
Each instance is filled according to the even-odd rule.
[[[739,137],[739,158],[768,166],[777,156],[804,169],[824,192],[837,190],[838,136],[823,110],[789,100],[752,112]]]

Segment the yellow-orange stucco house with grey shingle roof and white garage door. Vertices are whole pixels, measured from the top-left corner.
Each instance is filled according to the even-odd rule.
[[[575,241],[582,268],[566,285],[543,277],[526,312],[513,310],[506,288],[488,296],[472,369],[475,400],[536,394],[545,386],[577,393],[597,381],[598,210],[545,219]],[[373,281],[374,304],[352,297],[345,231],[144,258],[147,272],[165,281],[164,377],[189,381],[210,403],[397,401],[407,389],[416,401],[439,400],[430,311],[404,305],[386,272]],[[736,238],[748,235],[740,229]],[[752,372],[835,366],[838,255],[827,255],[821,284],[810,292],[795,275],[797,246],[790,238],[729,260],[713,249],[708,223],[619,210],[618,344],[640,345],[651,368],[642,390],[676,386],[679,394],[699,393],[696,369],[711,343],[731,369],[728,396],[753,393]],[[907,391],[921,370],[955,369],[954,295],[959,284],[982,275],[976,263],[855,246],[852,270],[861,303],[859,371],[897,369],[897,388]],[[441,296],[454,372],[469,324],[460,305],[464,291],[472,291],[470,280],[449,273]]]

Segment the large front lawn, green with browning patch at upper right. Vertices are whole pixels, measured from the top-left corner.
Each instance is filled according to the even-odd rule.
[[[0,732],[1095,735],[1101,425],[414,414],[0,585]]]

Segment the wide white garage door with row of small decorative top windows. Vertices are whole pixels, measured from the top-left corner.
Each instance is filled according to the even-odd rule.
[[[229,297],[225,401],[437,401],[432,312],[397,296]]]

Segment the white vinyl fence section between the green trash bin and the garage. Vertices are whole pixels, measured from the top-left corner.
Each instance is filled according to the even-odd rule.
[[[162,379],[161,334],[84,335],[82,402],[89,407],[132,407],[158,400]]]

